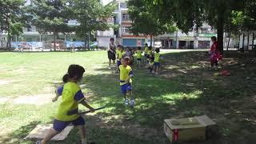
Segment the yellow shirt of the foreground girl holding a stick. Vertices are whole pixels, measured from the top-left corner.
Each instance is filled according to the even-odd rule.
[[[81,90],[75,82],[67,82],[62,91],[62,102],[58,106],[55,118],[59,121],[73,121],[79,118],[77,113],[69,114],[78,110],[78,102],[74,99],[75,94]]]

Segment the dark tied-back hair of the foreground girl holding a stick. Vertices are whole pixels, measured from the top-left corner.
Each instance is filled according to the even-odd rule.
[[[70,65],[69,69],[67,70],[67,73],[63,76],[62,80],[63,82],[68,82],[70,78],[74,78],[75,76],[77,76],[77,79],[82,78],[82,74],[85,72],[86,70],[79,65]]]

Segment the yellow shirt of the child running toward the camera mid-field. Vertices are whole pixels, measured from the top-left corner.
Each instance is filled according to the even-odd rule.
[[[126,78],[128,78],[129,76],[130,77],[133,77],[134,76],[134,73],[133,73],[133,70],[131,69],[130,66],[119,66],[119,70],[120,70],[120,86],[126,84],[127,82],[126,81]],[[132,82],[131,78],[130,78],[130,83]]]

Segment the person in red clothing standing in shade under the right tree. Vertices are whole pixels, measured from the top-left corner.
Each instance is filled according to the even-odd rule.
[[[214,66],[218,69],[218,60],[222,58],[219,50],[218,50],[218,42],[216,37],[211,37],[211,41],[213,42],[210,47],[210,66],[211,70],[214,70]]]

